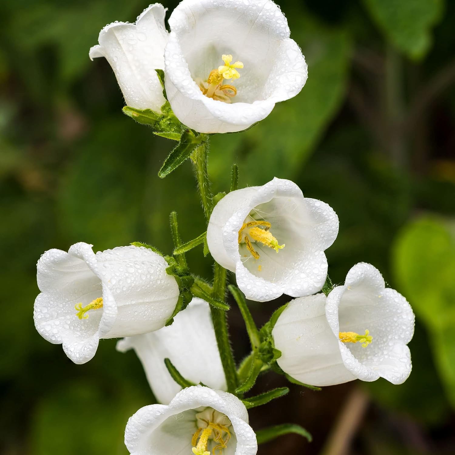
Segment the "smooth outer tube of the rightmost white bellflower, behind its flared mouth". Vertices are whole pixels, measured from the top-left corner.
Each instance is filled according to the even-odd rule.
[[[323,293],[292,300],[273,328],[281,369],[304,384],[326,386],[355,379],[344,366],[325,317]]]

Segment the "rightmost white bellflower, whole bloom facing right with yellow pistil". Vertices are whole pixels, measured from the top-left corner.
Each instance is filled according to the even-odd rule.
[[[321,293],[291,301],[272,332],[281,369],[318,386],[379,377],[403,383],[411,372],[407,344],[413,334],[410,304],[366,263],[351,268],[327,298]]]

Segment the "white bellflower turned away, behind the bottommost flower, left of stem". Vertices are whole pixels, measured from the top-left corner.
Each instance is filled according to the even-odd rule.
[[[210,307],[193,298],[188,308],[168,327],[120,340],[117,350],[134,349],[144,366],[148,382],[160,403],[167,404],[182,388],[167,371],[168,358],[182,376],[213,389],[226,390],[226,379],[217,348]]]

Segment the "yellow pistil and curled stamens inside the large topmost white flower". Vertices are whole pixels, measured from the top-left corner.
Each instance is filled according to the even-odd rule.
[[[233,85],[223,84],[223,81],[224,79],[231,79],[231,81],[238,79],[240,73],[237,68],[243,68],[243,63],[241,61],[231,63],[233,56],[230,54],[223,54],[221,58],[224,65],[210,71],[207,81],[199,82],[199,88],[207,98],[230,103],[231,98],[237,95],[237,89]]]

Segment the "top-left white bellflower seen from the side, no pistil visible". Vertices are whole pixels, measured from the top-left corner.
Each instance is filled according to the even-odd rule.
[[[164,69],[167,30],[166,9],[150,5],[135,24],[112,22],[99,35],[99,45],[90,49],[91,60],[105,57],[111,65],[126,104],[136,109],[161,112],[166,102],[157,69]]]

